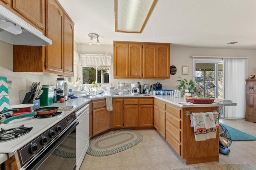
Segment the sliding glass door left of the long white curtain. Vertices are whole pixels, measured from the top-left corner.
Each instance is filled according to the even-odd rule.
[[[193,59],[193,76],[204,90],[197,94],[206,98],[223,98],[223,61],[222,59]]]

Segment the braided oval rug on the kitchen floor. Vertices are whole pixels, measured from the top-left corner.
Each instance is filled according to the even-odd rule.
[[[142,141],[142,135],[135,130],[119,129],[109,131],[89,141],[87,154],[107,156],[133,147]]]

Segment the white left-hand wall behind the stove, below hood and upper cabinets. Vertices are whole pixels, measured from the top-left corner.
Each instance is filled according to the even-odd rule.
[[[0,41],[0,76],[8,78],[25,78],[27,92],[29,92],[33,82],[41,82],[42,84],[55,86],[56,76],[13,72],[12,47],[13,45]]]

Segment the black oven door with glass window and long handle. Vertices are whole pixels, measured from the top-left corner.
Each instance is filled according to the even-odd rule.
[[[76,169],[76,126],[75,122],[40,156],[26,167],[26,170],[75,170]],[[22,168],[22,169],[23,169]]]

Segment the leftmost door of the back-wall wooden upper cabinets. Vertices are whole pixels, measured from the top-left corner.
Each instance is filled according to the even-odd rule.
[[[114,78],[128,78],[127,43],[114,43]]]

